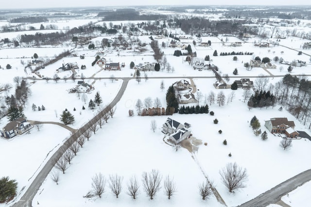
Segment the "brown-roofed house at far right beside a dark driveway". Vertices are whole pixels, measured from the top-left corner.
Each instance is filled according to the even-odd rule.
[[[294,121],[288,121],[287,118],[271,118],[265,121],[264,126],[271,133],[284,133],[287,137],[299,136],[299,133],[294,130]]]

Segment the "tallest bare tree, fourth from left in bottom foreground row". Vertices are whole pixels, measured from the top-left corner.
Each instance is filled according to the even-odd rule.
[[[160,175],[158,170],[153,169],[151,172],[143,172],[142,174],[142,184],[144,191],[150,197],[154,199],[157,191],[161,189],[160,184],[162,180],[162,175]]]

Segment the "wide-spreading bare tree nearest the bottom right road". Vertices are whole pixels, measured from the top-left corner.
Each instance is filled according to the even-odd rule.
[[[227,163],[226,167],[220,171],[222,181],[229,192],[235,189],[245,188],[244,182],[247,180],[246,168],[242,169],[237,163]]]

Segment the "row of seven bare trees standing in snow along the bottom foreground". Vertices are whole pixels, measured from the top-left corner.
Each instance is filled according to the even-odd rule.
[[[237,163],[228,163],[226,167],[220,171],[220,175],[229,192],[244,188],[245,181],[248,177],[246,169],[242,169],[242,167],[239,167]],[[162,179],[163,176],[158,170],[155,169],[151,172],[142,173],[142,189],[150,200],[153,200],[156,193],[161,190],[161,183],[163,183],[163,192],[168,199],[171,199],[171,197],[176,193],[177,187],[174,179],[169,175],[165,177],[163,182]],[[109,178],[106,179],[102,173],[95,174],[92,177],[92,189],[88,191],[84,197],[90,198],[98,196],[101,198],[105,192],[107,182],[111,193],[118,198],[122,191],[123,177],[115,174],[109,175]],[[198,185],[199,194],[203,200],[208,199],[213,194],[212,185],[213,184],[208,179]],[[139,187],[138,177],[133,175],[127,182],[125,193],[131,196],[132,199],[136,199],[138,194],[140,194]]]

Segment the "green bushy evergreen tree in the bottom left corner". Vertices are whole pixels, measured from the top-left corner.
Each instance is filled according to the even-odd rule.
[[[9,176],[0,179],[0,203],[8,202],[16,195],[17,182],[9,179]]]

